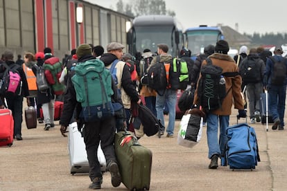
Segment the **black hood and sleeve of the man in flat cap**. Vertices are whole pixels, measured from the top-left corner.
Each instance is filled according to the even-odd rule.
[[[116,55],[111,54],[111,53],[105,53],[100,58],[100,60],[103,61],[105,66],[109,66],[116,59],[117,59]],[[132,79],[130,78],[130,69],[129,69],[128,65],[126,65],[126,64],[123,67],[121,86],[123,87],[125,92],[128,94],[128,96],[130,96],[130,100],[132,100],[134,102],[139,101],[139,93],[137,93],[137,90],[134,87]]]

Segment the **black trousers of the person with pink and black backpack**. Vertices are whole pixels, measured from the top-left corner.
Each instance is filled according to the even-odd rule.
[[[14,136],[17,134],[21,135],[21,125],[23,121],[23,97],[21,96],[10,96],[6,98],[8,109],[12,111],[14,119]]]

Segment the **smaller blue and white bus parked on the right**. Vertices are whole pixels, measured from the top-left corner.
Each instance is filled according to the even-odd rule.
[[[191,50],[191,57],[203,54],[205,46],[209,44],[216,46],[216,42],[220,39],[224,39],[223,31],[220,27],[202,25],[187,28],[184,31],[185,46]]]

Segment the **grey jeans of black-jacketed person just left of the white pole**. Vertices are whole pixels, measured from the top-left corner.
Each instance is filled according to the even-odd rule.
[[[249,101],[250,118],[254,118],[254,111],[260,111],[260,95],[263,91],[261,82],[256,84],[247,84],[246,92]]]

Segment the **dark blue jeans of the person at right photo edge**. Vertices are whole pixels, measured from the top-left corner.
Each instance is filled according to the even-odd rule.
[[[273,120],[280,119],[281,126],[284,126],[284,112],[285,112],[285,100],[286,100],[286,85],[273,86],[268,89],[268,109],[272,114]]]

